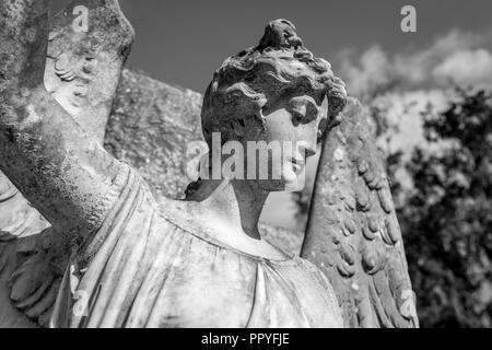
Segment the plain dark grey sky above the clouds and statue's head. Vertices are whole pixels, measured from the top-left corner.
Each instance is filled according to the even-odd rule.
[[[412,52],[450,30],[491,28],[490,0],[120,0],[137,38],[128,65],[159,80],[203,92],[229,56],[256,45],[265,25],[289,19],[316,56],[340,67],[340,52],[374,45]],[[62,8],[68,1],[56,0]],[[402,33],[400,10],[417,9],[417,33]],[[343,77],[342,77],[343,78]]]

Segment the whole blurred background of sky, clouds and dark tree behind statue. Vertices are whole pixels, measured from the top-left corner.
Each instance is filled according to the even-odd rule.
[[[55,1],[55,10],[68,1]],[[120,0],[127,66],[203,93],[221,62],[285,18],[370,108],[387,160],[422,327],[492,327],[490,0]],[[403,33],[403,5],[417,32]],[[313,184],[316,160],[309,165]],[[265,220],[304,230],[312,186]]]

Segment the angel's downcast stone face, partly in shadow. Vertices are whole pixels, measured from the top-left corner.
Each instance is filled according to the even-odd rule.
[[[245,120],[243,142],[245,168],[255,164],[259,187],[267,191],[302,190],[305,185],[306,160],[316,147],[327,125],[327,100],[320,96],[284,95],[262,110],[258,118]],[[254,124],[254,125],[251,125]],[[249,152],[253,143],[266,152]],[[263,173],[261,171],[263,170]],[[267,174],[267,176],[265,176]],[[251,177],[249,177],[251,178]]]

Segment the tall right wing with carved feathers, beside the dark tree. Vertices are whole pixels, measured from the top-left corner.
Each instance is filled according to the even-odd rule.
[[[383,159],[354,98],[323,147],[302,255],[336,290],[348,327],[418,327]]]

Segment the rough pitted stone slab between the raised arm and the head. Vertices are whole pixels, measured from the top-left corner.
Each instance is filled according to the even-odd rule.
[[[202,141],[201,95],[126,69],[106,127],[105,148],[131,164],[156,197],[184,198],[186,150]]]

